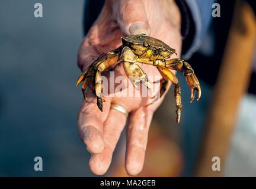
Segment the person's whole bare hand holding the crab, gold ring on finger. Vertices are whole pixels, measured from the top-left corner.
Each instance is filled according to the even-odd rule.
[[[123,35],[145,33],[164,41],[181,53],[180,12],[174,1],[107,0],[103,11],[82,41],[78,52],[78,66],[84,71],[100,54],[121,45]],[[175,58],[175,55],[173,56]],[[148,76],[159,76],[156,67],[143,64]],[[126,76],[123,64],[114,67],[115,73]],[[153,80],[150,81],[154,82]],[[133,87],[132,85],[127,87]],[[97,107],[95,95],[89,90],[88,102],[82,103],[78,115],[79,136],[91,152],[89,167],[102,175],[110,166],[126,116],[111,109],[111,103],[121,105],[130,113],[127,130],[126,171],[137,175],[143,168],[149,125],[153,112],[162,102],[148,105],[151,97],[104,96],[103,112]]]

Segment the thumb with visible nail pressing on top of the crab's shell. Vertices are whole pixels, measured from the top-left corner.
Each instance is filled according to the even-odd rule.
[[[124,35],[151,33],[144,0],[120,0],[117,6],[117,22]]]

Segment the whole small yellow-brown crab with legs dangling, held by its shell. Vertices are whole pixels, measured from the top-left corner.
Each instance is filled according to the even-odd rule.
[[[175,49],[169,47],[164,42],[149,37],[145,34],[130,35],[128,37],[121,38],[122,45],[108,53],[101,54],[100,57],[95,60],[91,66],[89,66],[84,73],[79,77],[76,82],[76,86],[79,83],[82,84],[82,93],[84,99],[86,100],[85,89],[88,83],[92,83],[92,88],[94,94],[97,96],[97,106],[103,111],[103,99],[101,96],[101,73],[107,70],[110,66],[113,66],[119,61],[123,61],[124,70],[129,78],[132,79],[133,86],[137,89],[137,84],[140,82],[145,84],[150,88],[148,77],[146,73],[142,70],[139,64],[150,64],[156,66],[162,75],[160,97],[164,94],[168,86],[168,81],[170,80],[174,84],[174,97],[176,102],[176,113],[177,113],[177,123],[180,122],[181,116],[181,89],[178,84],[178,79],[171,70],[182,71],[185,79],[190,87],[190,102],[194,100],[195,91],[198,92],[198,98],[201,96],[201,89],[199,80],[194,74],[194,70],[191,68],[190,64],[181,60],[180,58],[170,58],[172,54],[177,54]]]

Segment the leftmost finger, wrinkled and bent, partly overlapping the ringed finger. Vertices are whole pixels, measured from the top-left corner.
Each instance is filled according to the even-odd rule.
[[[82,104],[78,114],[79,136],[92,154],[98,154],[104,149],[103,123],[110,108],[108,97],[105,97],[103,112],[98,109],[96,101],[95,97],[89,94],[88,103]]]

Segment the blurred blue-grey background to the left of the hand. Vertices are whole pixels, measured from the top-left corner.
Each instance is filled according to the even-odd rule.
[[[91,176],[77,134],[84,1],[0,1],[0,176]],[[43,171],[34,171],[34,157]]]

